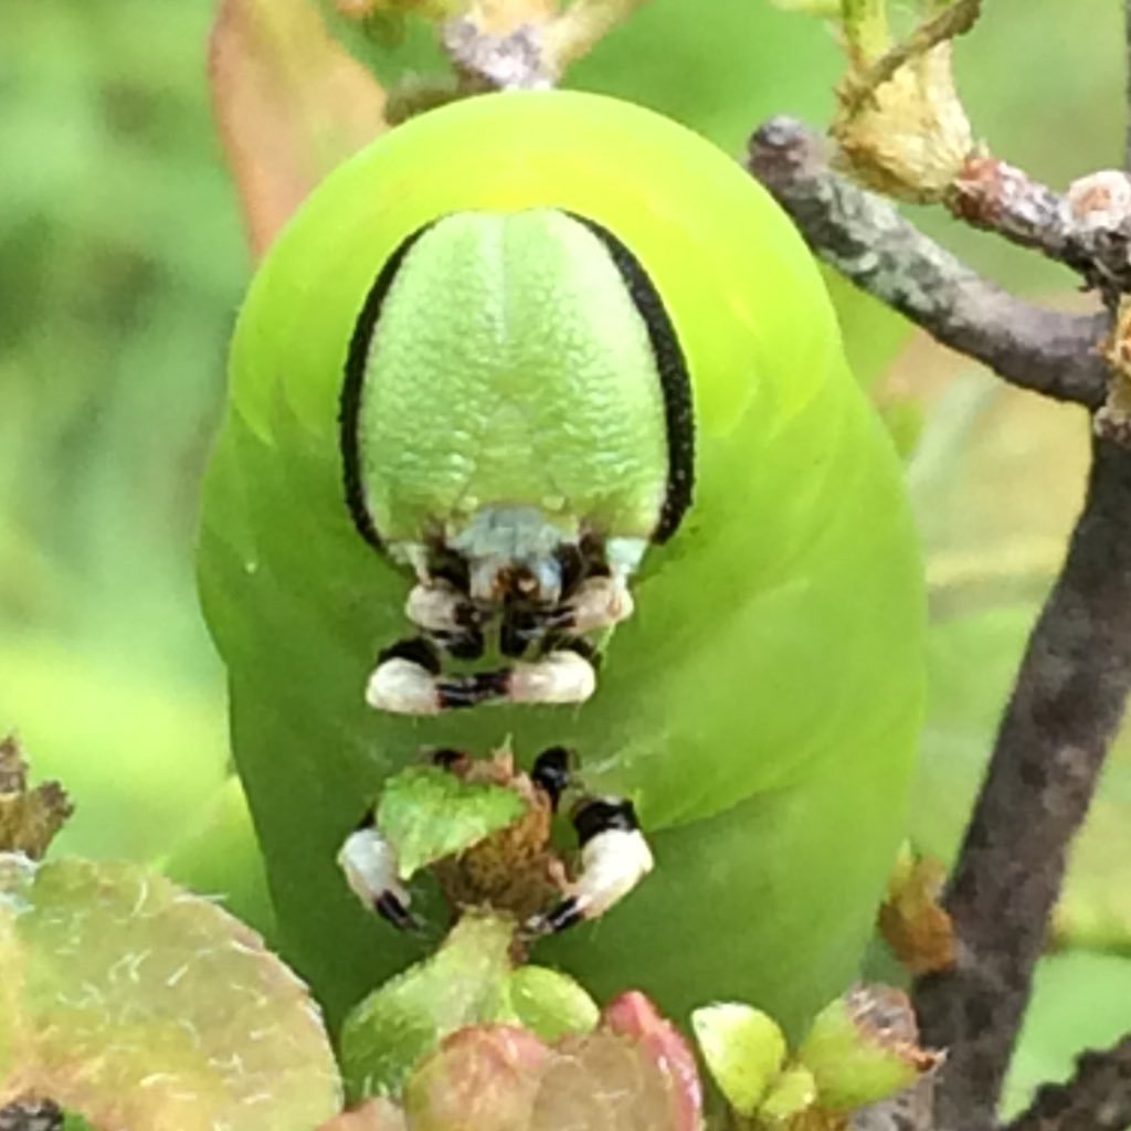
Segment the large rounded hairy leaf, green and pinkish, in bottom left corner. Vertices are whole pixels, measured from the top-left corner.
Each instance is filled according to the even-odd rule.
[[[0,855],[0,1107],[94,1126],[309,1131],[340,1085],[305,986],[207,899],[135,864]]]

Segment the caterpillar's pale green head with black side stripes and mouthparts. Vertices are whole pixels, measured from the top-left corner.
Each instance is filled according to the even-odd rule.
[[[421,634],[386,649],[368,698],[434,714],[578,702],[592,633],[691,501],[683,352],[656,288],[608,231],[553,208],[466,211],[414,232],[359,316],[342,395],[361,534],[413,569]],[[441,656],[524,662],[441,675]]]

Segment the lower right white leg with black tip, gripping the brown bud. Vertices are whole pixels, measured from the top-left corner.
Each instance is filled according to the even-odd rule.
[[[653,869],[651,849],[631,801],[589,797],[573,810],[573,828],[581,847],[580,871],[561,903],[527,921],[532,934],[553,934],[598,918]]]

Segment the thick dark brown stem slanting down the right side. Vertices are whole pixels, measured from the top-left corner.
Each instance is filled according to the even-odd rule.
[[[949,1050],[936,1121],[993,1125],[1068,845],[1131,691],[1131,451],[1093,444],[1083,512],[1029,639],[944,899],[958,961],[918,979],[923,1037]]]

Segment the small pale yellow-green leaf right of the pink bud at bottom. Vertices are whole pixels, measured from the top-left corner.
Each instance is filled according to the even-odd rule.
[[[752,1005],[719,1002],[691,1015],[710,1074],[740,1115],[753,1115],[785,1061],[785,1035]]]

